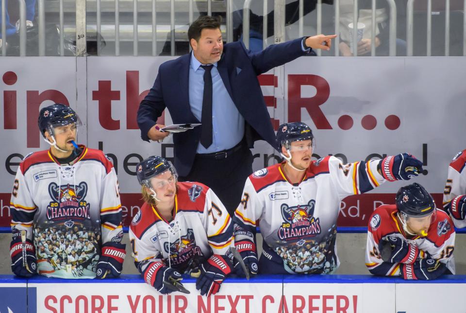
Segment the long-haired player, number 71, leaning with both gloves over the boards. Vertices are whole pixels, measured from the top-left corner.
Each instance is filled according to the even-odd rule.
[[[163,157],[143,160],[136,174],[145,203],[129,237],[144,280],[168,294],[178,286],[180,273],[199,269],[196,288],[201,295],[215,294],[233,268],[233,223],[227,210],[207,186],[177,182],[175,168]]]

